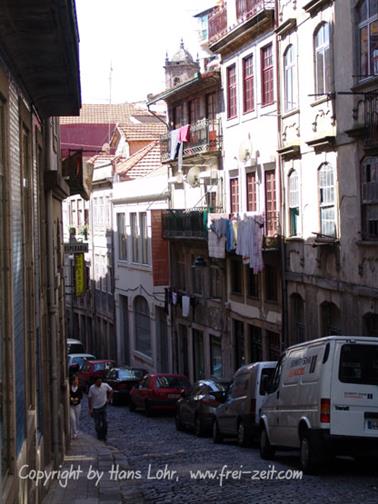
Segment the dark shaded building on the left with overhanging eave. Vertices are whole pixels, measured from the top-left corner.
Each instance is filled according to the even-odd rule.
[[[57,468],[68,442],[70,187],[56,116],[79,113],[80,81],[73,1],[6,1],[0,11],[0,500],[11,504],[41,501],[41,487],[19,470]]]

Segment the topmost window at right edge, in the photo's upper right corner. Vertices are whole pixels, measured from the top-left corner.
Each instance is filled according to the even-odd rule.
[[[378,74],[378,3],[362,0],[358,7],[360,78]]]

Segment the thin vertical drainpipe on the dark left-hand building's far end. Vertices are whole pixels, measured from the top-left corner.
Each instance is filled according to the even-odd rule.
[[[49,327],[50,327],[50,355],[51,355],[51,411],[52,416],[52,448],[54,457],[54,466],[59,464],[59,433],[58,433],[58,370],[57,370],[57,336],[56,320],[58,316],[58,306],[55,293],[55,272],[54,272],[54,205],[53,192],[47,193],[47,253],[48,253],[48,303],[49,303]]]

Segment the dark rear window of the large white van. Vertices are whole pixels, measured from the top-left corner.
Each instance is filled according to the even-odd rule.
[[[339,380],[344,383],[378,385],[378,345],[343,345]]]

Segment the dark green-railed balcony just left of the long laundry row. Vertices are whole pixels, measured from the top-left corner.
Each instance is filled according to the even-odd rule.
[[[163,238],[197,238],[207,240],[207,210],[165,210]]]

